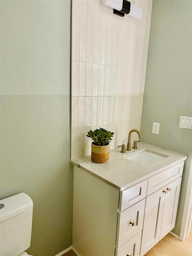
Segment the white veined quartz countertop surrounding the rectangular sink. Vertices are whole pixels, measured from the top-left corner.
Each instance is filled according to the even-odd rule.
[[[141,165],[122,157],[143,149],[156,151],[158,153],[168,155],[168,157],[150,165]],[[117,148],[111,149],[109,152],[109,161],[107,163],[94,163],[91,161],[91,156],[71,160],[71,163],[104,181],[105,183],[113,186],[114,188],[122,191],[187,159],[186,155],[142,142],[138,143],[137,150],[133,150],[131,148],[131,151],[126,151],[126,153],[120,153],[119,151],[120,150]]]

